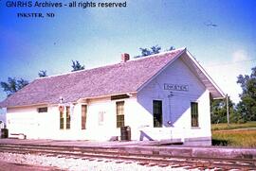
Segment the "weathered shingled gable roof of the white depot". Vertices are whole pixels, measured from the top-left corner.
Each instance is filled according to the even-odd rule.
[[[136,93],[183,53],[187,53],[186,48],[60,76],[39,77],[22,90],[10,95],[0,103],[0,107],[58,104],[60,96],[64,98],[64,102],[76,102],[83,98]],[[188,59],[191,59],[189,62],[193,62],[193,66],[194,63],[198,64],[194,59]],[[199,64],[198,67],[196,66],[197,73],[200,71],[198,77],[202,77],[213,97],[223,96]]]

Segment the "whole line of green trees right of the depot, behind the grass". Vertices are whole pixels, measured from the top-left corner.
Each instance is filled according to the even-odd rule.
[[[256,66],[251,68],[250,75],[239,75],[237,83],[243,92],[239,94],[241,101],[235,105],[229,98],[230,123],[245,123],[256,121]],[[227,100],[227,99],[226,99]],[[225,100],[211,100],[211,123],[227,123],[227,102]]]

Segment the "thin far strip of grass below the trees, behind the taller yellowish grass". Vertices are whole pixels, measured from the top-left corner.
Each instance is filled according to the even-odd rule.
[[[256,128],[256,122],[247,122],[245,124],[212,124],[211,130],[228,130],[237,128]]]

